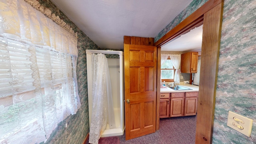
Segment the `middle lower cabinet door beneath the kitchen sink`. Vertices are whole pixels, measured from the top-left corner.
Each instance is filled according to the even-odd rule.
[[[184,98],[171,98],[170,117],[184,115]]]

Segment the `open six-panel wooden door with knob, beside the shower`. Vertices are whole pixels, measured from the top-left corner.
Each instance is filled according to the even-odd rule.
[[[155,46],[124,44],[126,140],[156,131]]]

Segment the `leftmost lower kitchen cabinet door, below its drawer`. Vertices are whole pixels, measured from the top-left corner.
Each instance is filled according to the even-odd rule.
[[[170,100],[169,98],[161,98],[159,106],[159,117],[168,118],[170,116]]]

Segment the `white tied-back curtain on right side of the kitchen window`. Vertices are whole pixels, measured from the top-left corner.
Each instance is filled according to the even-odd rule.
[[[180,54],[170,54],[169,55],[174,66],[175,75],[174,75],[174,82],[180,84],[180,62],[181,62],[181,55]]]

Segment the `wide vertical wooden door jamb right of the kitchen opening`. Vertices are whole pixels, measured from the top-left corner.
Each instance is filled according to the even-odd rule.
[[[223,3],[204,14],[196,143],[211,144]]]

